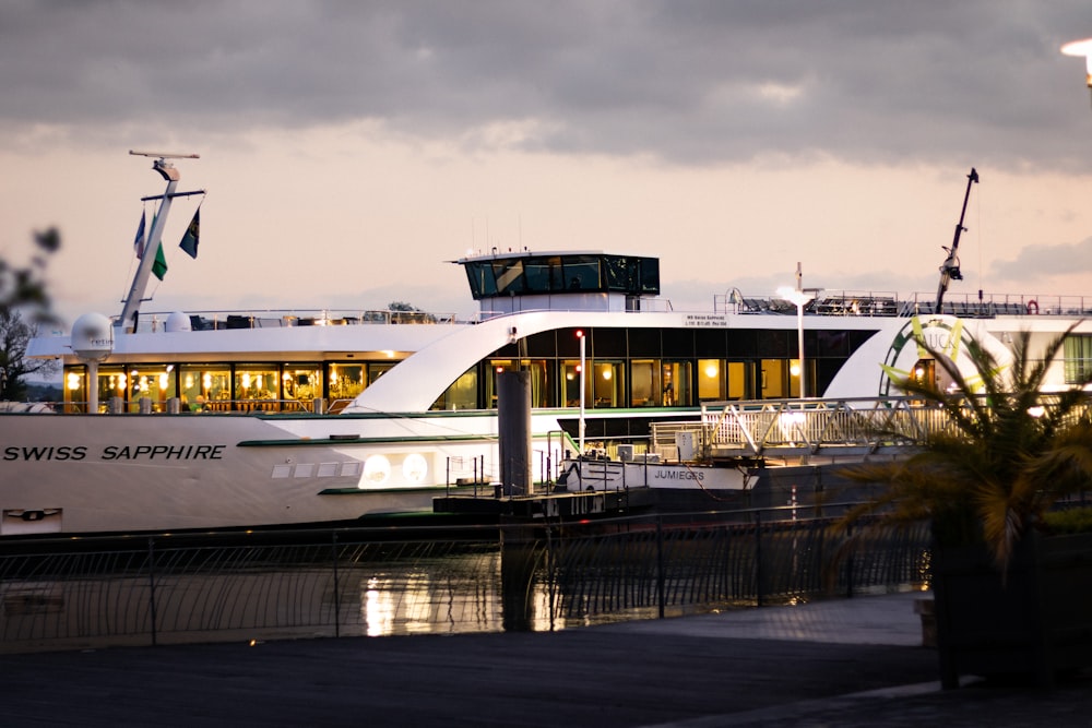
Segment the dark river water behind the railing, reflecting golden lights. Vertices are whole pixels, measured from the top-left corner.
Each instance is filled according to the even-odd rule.
[[[688,537],[665,538],[663,557],[655,541],[637,534],[616,540],[571,538],[555,542],[549,552],[539,541],[509,541],[503,558],[496,541],[165,548],[154,569],[133,552],[44,560],[33,569],[21,566],[17,574],[8,566],[13,561],[0,558],[0,653],[237,639],[545,632],[654,619],[661,602],[664,617],[755,604],[752,562],[722,558],[740,553],[753,536],[729,541],[682,535]],[[782,542],[795,546],[796,539]],[[778,544],[767,541],[764,558]],[[911,554],[901,559],[917,563],[919,549],[914,549],[911,545]],[[793,560],[779,563],[795,564],[796,553],[794,548]],[[771,568],[776,576],[792,571]],[[807,598],[786,584],[768,594]],[[868,582],[858,576],[854,588],[868,588]]]

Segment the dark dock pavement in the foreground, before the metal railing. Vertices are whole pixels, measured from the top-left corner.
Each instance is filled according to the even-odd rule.
[[[549,633],[0,656],[4,726],[1092,726],[1092,675],[942,691],[905,593]]]

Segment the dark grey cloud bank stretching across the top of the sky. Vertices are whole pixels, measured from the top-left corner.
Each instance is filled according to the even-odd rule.
[[[14,0],[0,9],[0,130],[371,120],[681,165],[1071,166],[1082,70],[1058,47],[1083,22],[1083,0]]]

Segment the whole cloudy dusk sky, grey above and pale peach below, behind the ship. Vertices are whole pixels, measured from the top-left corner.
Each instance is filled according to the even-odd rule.
[[[70,320],[116,314],[183,152],[200,254],[144,310],[471,313],[470,250],[658,255],[732,287],[1092,296],[1087,0],[0,0],[0,254],[58,226]]]

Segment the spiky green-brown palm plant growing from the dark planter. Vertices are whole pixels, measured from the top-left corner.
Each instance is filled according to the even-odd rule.
[[[972,339],[965,348],[970,374],[919,339],[952,386],[940,391],[913,378],[900,386],[942,409],[949,428],[931,434],[906,460],[847,468],[851,479],[887,488],[846,520],[866,514],[888,523],[929,520],[940,544],[985,542],[1004,572],[1017,541],[1045,528],[1044,515],[1059,499],[1092,488],[1092,419],[1084,391],[1092,377],[1066,391],[1043,393],[1047,372],[1076,325],[1038,358],[1031,353],[1031,334],[1019,334],[1006,366]]]

